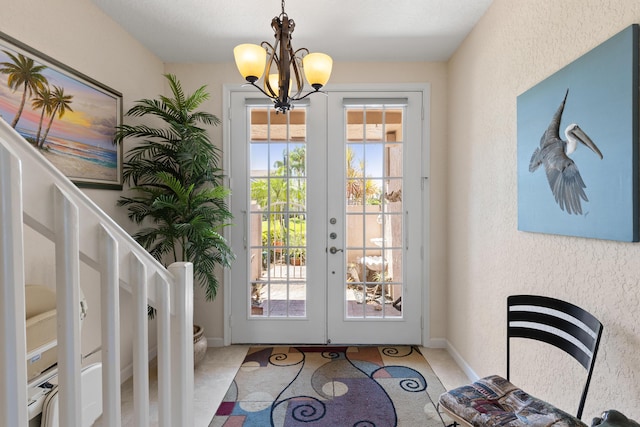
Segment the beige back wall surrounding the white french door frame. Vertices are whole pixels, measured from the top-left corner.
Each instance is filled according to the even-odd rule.
[[[203,108],[222,118],[222,87],[242,83],[235,64],[167,64],[167,72],[181,79],[186,91],[207,85],[211,100]],[[445,166],[446,166],[446,105],[447,74],[445,63],[334,63],[331,84],[358,83],[430,83],[431,84],[431,174],[430,174],[430,292],[429,326],[433,342],[445,338]],[[222,126],[212,133],[212,140],[222,145]],[[222,290],[221,290],[222,291]],[[205,326],[210,338],[221,338],[223,332],[223,297],[220,292],[213,302],[206,302],[196,290],[196,322]]]

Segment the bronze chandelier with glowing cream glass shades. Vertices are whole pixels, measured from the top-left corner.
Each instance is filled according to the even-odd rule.
[[[309,53],[306,48],[294,51],[291,34],[295,26],[293,19],[285,13],[282,0],[282,13],[271,20],[276,39],[273,46],[263,41],[260,45],[241,44],[233,49],[236,66],[242,77],[271,98],[276,110],[283,113],[293,108],[293,101],[319,92],[327,84],[333,64],[331,57],[324,53]],[[304,81],[301,71],[304,71],[307,81],[314,89],[306,95],[302,95]],[[256,84],[263,73],[264,89]],[[293,88],[295,93],[292,95]]]

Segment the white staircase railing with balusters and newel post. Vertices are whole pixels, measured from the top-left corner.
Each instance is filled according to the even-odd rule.
[[[28,196],[27,196],[28,195]],[[193,266],[165,269],[0,120],[0,427],[26,427],[24,225],[55,245],[59,425],[81,426],[80,262],[100,275],[102,422],[121,425],[120,288],[132,294],[134,425],[149,425],[147,305],[160,426],[193,426]]]

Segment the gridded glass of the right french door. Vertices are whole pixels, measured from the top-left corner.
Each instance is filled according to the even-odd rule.
[[[403,108],[346,108],[347,319],[402,318]]]

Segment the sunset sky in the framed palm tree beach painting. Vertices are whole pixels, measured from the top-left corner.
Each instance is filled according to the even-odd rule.
[[[3,50],[10,51],[17,56],[17,52],[0,45],[0,62],[12,63]],[[24,53],[23,53],[24,54]],[[25,56],[30,56],[25,54]],[[49,86],[64,89],[65,95],[73,95],[69,105],[73,111],[67,110],[62,118],[56,114],[49,134],[53,137],[85,144],[99,146],[108,150],[115,150],[113,145],[114,127],[117,124],[118,102],[104,92],[94,89],[78,80],[70,78],[55,69],[48,67],[42,72]],[[22,88],[15,92],[7,86],[7,75],[0,74],[0,116],[11,123],[20,105]],[[24,111],[18,122],[18,130],[37,132],[41,111],[34,111],[31,99],[27,98]],[[49,123],[45,116],[42,124],[43,132]]]

